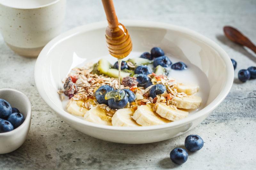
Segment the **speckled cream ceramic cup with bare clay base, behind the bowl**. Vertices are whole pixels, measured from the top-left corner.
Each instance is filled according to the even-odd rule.
[[[10,48],[37,57],[60,34],[66,0],[0,0],[0,30]]]

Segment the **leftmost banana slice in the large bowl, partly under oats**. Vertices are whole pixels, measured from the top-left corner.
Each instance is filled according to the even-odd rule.
[[[70,100],[67,105],[68,112],[76,116],[84,116],[88,110],[84,107],[80,107],[82,106],[81,102],[82,101]]]

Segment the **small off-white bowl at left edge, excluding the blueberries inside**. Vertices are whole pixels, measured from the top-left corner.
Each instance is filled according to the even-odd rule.
[[[25,117],[24,122],[16,129],[0,133],[0,154],[4,154],[18,149],[24,143],[30,128],[31,103],[26,95],[14,89],[0,89],[0,98],[19,109]]]

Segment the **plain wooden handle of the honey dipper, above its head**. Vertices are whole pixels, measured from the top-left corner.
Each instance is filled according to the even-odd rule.
[[[116,11],[112,0],[101,0],[107,20],[109,28],[116,28],[118,26],[118,19],[116,17]]]

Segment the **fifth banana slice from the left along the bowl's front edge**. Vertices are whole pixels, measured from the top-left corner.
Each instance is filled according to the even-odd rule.
[[[188,116],[187,111],[183,111],[179,109],[175,110],[175,109],[172,109],[170,106],[165,106],[164,104],[161,104],[161,103],[156,104],[156,113],[161,117],[164,117],[171,121],[179,120]]]

